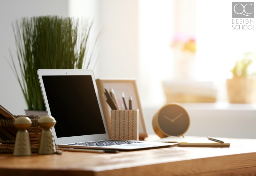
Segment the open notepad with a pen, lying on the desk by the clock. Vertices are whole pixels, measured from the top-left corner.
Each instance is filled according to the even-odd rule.
[[[179,147],[230,147],[230,143],[220,143],[209,140],[208,137],[196,137],[196,136],[169,136],[156,140],[156,142],[171,142],[177,143]]]

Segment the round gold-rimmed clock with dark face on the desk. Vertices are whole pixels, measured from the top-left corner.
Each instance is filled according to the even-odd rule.
[[[154,115],[153,129],[160,138],[182,136],[188,131],[190,119],[188,112],[178,103],[169,103]]]

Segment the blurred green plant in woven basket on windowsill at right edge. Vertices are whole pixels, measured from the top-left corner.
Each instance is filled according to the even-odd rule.
[[[253,64],[256,54],[246,52],[243,59],[237,60],[231,70],[232,79],[227,79],[228,100],[230,103],[254,103],[256,99],[256,77]],[[250,70],[251,68],[251,70]]]

